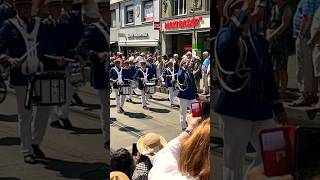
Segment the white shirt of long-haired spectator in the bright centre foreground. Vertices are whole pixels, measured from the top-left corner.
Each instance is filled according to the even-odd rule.
[[[155,155],[148,180],[198,180],[181,174],[178,169],[179,152],[180,141],[175,138]]]

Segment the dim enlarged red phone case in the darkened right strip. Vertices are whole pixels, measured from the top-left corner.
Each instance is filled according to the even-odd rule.
[[[260,133],[264,174],[268,177],[294,171],[294,126],[266,129]]]

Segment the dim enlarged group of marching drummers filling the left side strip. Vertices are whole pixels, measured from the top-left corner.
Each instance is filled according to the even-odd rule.
[[[49,119],[72,128],[69,106],[91,64],[99,92],[104,145],[109,146],[107,60],[109,2],[106,0],[19,0],[0,7],[0,64],[10,69],[18,109],[21,151],[26,163],[44,158],[40,149]]]

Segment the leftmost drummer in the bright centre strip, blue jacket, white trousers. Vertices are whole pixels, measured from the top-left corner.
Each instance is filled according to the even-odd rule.
[[[121,95],[119,92],[119,85],[124,84],[123,82],[123,69],[121,68],[121,59],[118,58],[114,61],[115,67],[110,71],[110,79],[113,81],[113,90],[116,95],[117,112],[123,113],[123,105],[126,96]]]

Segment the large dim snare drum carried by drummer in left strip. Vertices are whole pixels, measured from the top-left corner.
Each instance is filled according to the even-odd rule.
[[[62,105],[66,103],[66,74],[46,72],[32,75],[28,85],[26,107]]]

